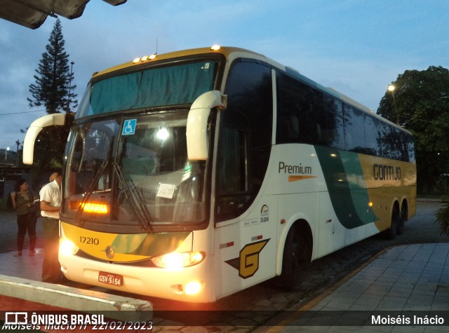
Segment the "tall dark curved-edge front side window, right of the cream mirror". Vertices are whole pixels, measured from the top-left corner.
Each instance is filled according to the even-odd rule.
[[[217,222],[245,212],[262,186],[272,149],[272,91],[267,65],[237,59],[229,69],[217,151],[226,168],[217,172]]]

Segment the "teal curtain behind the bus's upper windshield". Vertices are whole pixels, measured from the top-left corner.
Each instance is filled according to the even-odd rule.
[[[82,116],[189,104],[213,88],[214,62],[196,62],[114,76],[94,83]],[[88,114],[85,114],[88,111]]]

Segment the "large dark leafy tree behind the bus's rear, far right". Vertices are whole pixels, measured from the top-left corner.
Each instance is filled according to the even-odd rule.
[[[385,93],[377,113],[413,133],[417,190],[435,193],[441,174],[449,173],[449,70],[407,70],[391,84],[395,89]]]

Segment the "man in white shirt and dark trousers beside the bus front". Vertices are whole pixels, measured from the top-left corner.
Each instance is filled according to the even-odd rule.
[[[61,172],[57,172],[53,182],[49,182],[39,191],[44,237],[42,281],[48,283],[59,283],[62,276],[58,261],[61,182]]]

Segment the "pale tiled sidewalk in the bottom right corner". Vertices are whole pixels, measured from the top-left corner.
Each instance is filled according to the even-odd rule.
[[[391,247],[263,332],[448,332],[448,252],[449,243]],[[372,315],[411,325],[373,325]],[[413,325],[413,315],[444,324]]]

